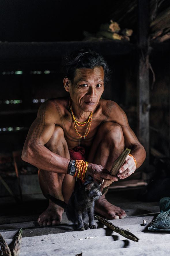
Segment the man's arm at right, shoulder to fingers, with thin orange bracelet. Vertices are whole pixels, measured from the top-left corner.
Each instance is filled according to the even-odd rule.
[[[135,161],[133,157],[128,156],[125,163],[119,170],[118,177],[124,179],[130,176],[136,168],[139,168],[146,158],[146,151],[144,147],[140,144],[135,133],[129,126],[128,119],[121,107],[117,103],[113,102],[112,110],[109,115],[109,121],[116,122],[122,127],[124,135],[125,147],[131,149],[131,155],[135,157],[137,166],[135,166]]]

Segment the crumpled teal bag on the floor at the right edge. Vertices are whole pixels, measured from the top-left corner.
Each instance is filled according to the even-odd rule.
[[[170,197],[160,199],[160,214],[153,220],[149,231],[170,232]]]

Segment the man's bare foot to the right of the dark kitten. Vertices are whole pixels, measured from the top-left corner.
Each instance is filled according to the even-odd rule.
[[[109,203],[105,195],[101,196],[95,204],[95,212],[103,215],[107,219],[123,219],[126,212],[119,207]]]

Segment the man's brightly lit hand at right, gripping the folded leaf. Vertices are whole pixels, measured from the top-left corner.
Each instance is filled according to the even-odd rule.
[[[119,179],[125,179],[129,177],[136,170],[135,161],[130,155],[127,156],[126,161],[119,170],[117,176]]]

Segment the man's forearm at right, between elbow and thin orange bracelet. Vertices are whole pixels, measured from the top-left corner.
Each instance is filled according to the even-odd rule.
[[[135,157],[136,159],[136,168],[139,168],[146,158],[146,151],[141,144],[137,144],[133,146],[131,150],[131,155],[133,155],[133,157]]]

